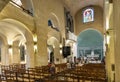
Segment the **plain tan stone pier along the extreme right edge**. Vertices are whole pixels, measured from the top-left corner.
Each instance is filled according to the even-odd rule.
[[[113,17],[115,29],[115,82],[120,82],[120,0],[113,0]]]

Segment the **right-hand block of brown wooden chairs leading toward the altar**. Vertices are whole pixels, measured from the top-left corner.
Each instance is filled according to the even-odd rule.
[[[96,68],[97,67],[97,68]],[[72,82],[107,82],[106,72],[103,64],[86,64],[73,69],[58,72],[55,79],[63,78]]]

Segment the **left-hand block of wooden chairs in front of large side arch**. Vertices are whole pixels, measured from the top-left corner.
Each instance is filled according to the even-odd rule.
[[[7,82],[35,82],[38,80],[44,80],[51,76],[49,66],[36,66],[35,68],[25,69],[25,67],[23,68],[20,65],[2,65],[1,70],[1,78]]]

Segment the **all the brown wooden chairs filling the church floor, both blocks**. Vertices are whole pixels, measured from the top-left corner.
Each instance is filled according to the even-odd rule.
[[[56,64],[55,73],[50,66],[25,68],[25,64],[1,66],[0,82],[107,82],[105,65],[89,63],[67,68],[66,63]]]

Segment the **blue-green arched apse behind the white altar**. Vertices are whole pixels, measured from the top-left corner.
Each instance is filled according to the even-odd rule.
[[[96,29],[86,29],[77,38],[77,57],[103,57],[103,35]]]

